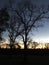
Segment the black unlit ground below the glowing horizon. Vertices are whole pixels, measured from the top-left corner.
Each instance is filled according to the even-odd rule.
[[[49,65],[49,50],[0,49],[1,65]]]

